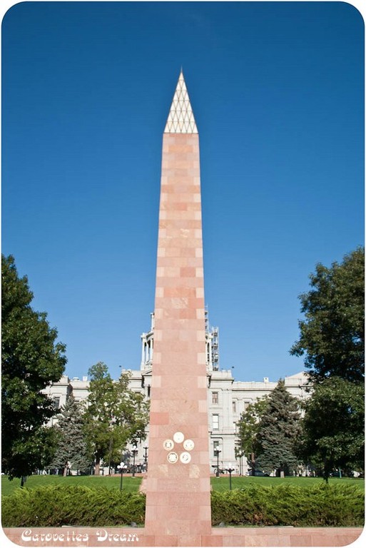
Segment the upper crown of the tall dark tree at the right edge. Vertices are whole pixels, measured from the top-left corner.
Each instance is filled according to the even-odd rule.
[[[363,382],[365,362],[365,250],[357,248],[331,268],[316,266],[311,290],[300,295],[300,339],[290,350],[305,354],[313,381],[335,375]]]

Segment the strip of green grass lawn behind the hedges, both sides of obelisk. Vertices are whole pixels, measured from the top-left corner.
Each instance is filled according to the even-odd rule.
[[[138,492],[141,484],[141,477],[131,477],[130,475],[123,476],[123,491]],[[280,483],[293,483],[301,487],[310,487],[317,483],[322,483],[321,477],[249,477],[249,476],[232,476],[233,489],[242,489],[248,484],[263,484],[263,485],[278,485]],[[71,485],[87,485],[88,487],[107,487],[107,489],[119,489],[121,476],[29,476],[25,487],[40,487],[50,484],[71,484]],[[357,480],[350,477],[342,479],[332,477],[329,480],[330,484],[353,484],[359,487],[362,491],[365,488],[365,480]],[[222,475],[220,477],[211,477],[211,485],[215,491],[227,491],[229,487],[229,476]],[[11,494],[14,489],[20,487],[19,478],[15,478],[9,482],[5,476],[1,477],[1,494]]]

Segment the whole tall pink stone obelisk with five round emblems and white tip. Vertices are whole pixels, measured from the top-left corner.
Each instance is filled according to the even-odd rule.
[[[181,72],[163,134],[145,532],[211,532],[198,131]]]

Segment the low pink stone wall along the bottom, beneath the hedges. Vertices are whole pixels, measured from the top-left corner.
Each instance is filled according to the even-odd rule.
[[[355,542],[363,529],[362,527],[213,527],[210,534],[197,534],[184,538],[164,534],[149,535],[145,533],[143,527],[6,527],[3,531],[14,544],[29,548],[338,547]],[[5,546],[7,547],[7,544]]]

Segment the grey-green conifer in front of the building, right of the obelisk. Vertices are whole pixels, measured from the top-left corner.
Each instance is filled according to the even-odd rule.
[[[298,400],[283,380],[270,393],[256,435],[256,466],[265,472],[289,474],[298,468],[295,442],[300,430]]]

